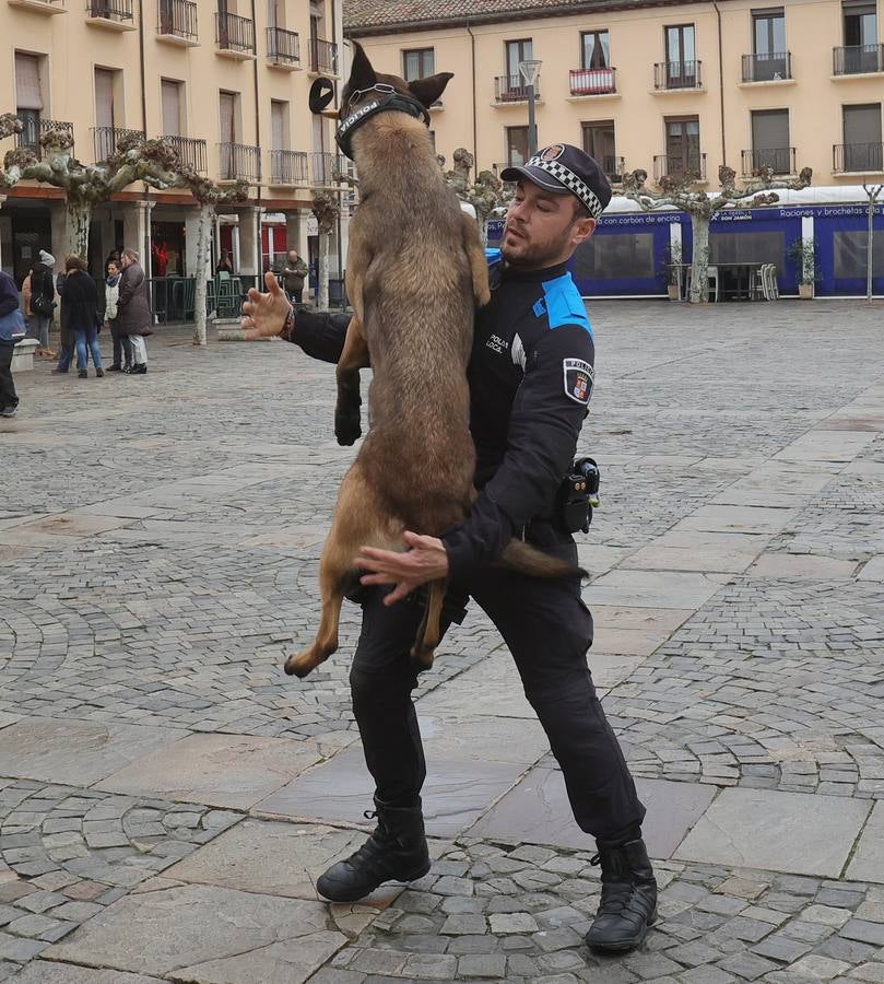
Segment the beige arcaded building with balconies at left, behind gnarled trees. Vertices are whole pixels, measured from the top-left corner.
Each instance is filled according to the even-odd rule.
[[[342,191],[332,127],[307,95],[318,74],[346,70],[340,0],[0,0],[0,112],[24,127],[0,152],[16,142],[39,152],[48,127],[69,131],[86,164],[130,130],[163,137],[209,178],[249,183],[248,201],[217,218],[213,260],[229,250],[235,271],[254,276],[286,247],[315,251],[313,196]],[[43,247],[60,260],[63,231],[62,191],[8,190],[3,269],[20,281]],[[196,233],[188,194],[130,186],[96,207],[93,272],[130,246],[150,255],[155,278],[192,277]]]

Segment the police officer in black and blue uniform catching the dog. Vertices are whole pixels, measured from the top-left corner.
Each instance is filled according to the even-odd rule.
[[[405,553],[361,552],[366,589],[357,599],[363,628],[350,680],[376,785],[377,829],[317,888],[331,901],[353,902],[385,881],[429,870],[409,649],[423,613],[421,586],[447,577],[444,626],[462,619],[460,599],[468,596],[497,626],[562,766],[575,819],[596,837],[602,897],[587,942],[628,950],[656,918],[657,883],[641,840],[645,808],[587,667],[592,617],[579,579],[541,581],[490,566],[514,537],[577,560],[555,502],[588,412],[594,343],[566,265],[594,231],[611,187],[592,157],[563,143],[502,177],[517,191],[502,248],[491,257],[492,301],[476,316],[468,368],[480,495],[464,523],[441,538],[406,532]],[[266,283],[270,293],[252,290],[244,305],[247,338],[282,335],[337,362],[347,317],[299,312],[295,324],[275,281]]]

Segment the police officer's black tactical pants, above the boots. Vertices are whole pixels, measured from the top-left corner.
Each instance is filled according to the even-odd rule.
[[[576,562],[570,537],[562,535],[557,544],[544,549]],[[449,599],[456,591],[449,590]],[[592,616],[577,579],[541,581],[487,569],[475,584],[463,586],[464,601],[467,594],[488,614],[512,654],[524,694],[562,766],[580,829],[611,841],[636,835],[645,808],[587,667]],[[409,657],[422,608],[408,599],[388,608],[382,597],[380,590],[370,590],[361,599],[363,628],[350,682],[377,796],[406,806],[426,777],[411,700],[417,681]],[[449,623],[446,620],[446,628]]]

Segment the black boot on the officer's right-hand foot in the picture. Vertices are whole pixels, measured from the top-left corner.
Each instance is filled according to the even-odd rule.
[[[617,846],[596,842],[602,901],[586,940],[593,950],[634,950],[657,921],[657,879],[643,840]]]

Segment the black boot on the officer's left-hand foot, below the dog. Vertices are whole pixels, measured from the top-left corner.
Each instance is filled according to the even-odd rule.
[[[391,807],[375,797],[378,825],[346,860],[332,865],[316,888],[331,902],[355,902],[385,881],[416,881],[429,870],[420,800],[415,807]]]

